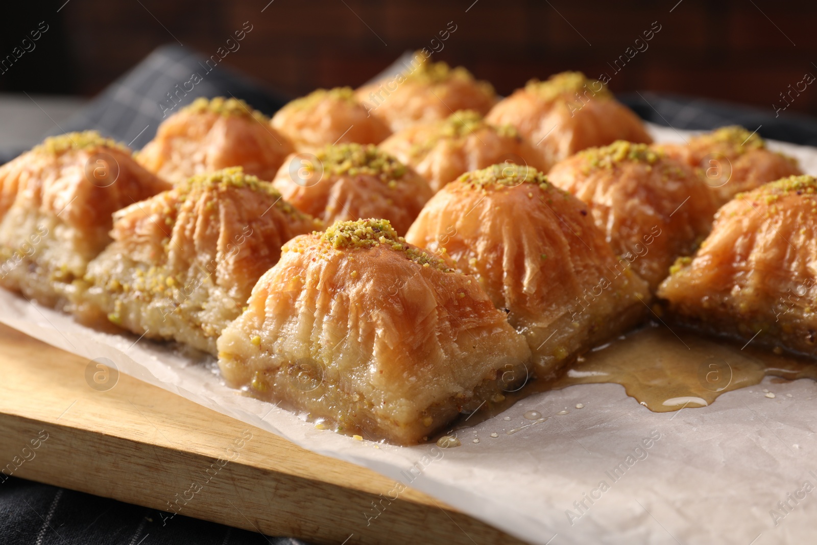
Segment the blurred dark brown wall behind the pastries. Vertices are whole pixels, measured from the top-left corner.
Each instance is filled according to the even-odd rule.
[[[676,92],[757,105],[773,114],[774,102],[784,105],[779,93],[807,72],[817,74],[814,0],[267,2],[16,4],[18,13],[7,13],[0,23],[0,56],[11,54],[39,21],[49,30],[34,51],[0,74],[0,91],[92,96],[163,43],[215,54],[244,21],[252,32],[223,64],[289,96],[364,83],[403,51],[430,47],[449,21],[458,28],[436,57],[465,65],[501,94],[565,69],[612,75],[607,63],[654,21],[660,32],[614,74],[614,92]],[[817,115],[817,82],[792,101],[792,113]]]

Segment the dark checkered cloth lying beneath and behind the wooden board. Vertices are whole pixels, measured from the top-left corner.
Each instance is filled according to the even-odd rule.
[[[382,75],[399,70],[401,57]],[[130,143],[138,149],[153,138],[163,121],[163,109],[173,103],[167,93],[184,90],[194,73],[202,81],[181,96],[172,111],[197,96],[235,96],[265,114],[274,114],[288,98],[276,95],[225,66],[208,72],[207,57],[176,45],[160,47],[136,68],[112,83],[76,118],[64,123],[66,131],[97,129],[105,136]],[[212,65],[212,63],[211,63]],[[190,88],[188,85],[187,88]],[[716,101],[660,95],[650,92],[619,96],[625,104],[659,125],[677,129],[712,129],[739,124],[761,136],[796,144],[817,145],[817,120],[749,109]],[[3,152],[5,151],[5,155]],[[0,150],[11,159],[19,150]],[[185,545],[187,543],[236,545],[238,543],[302,543],[288,538],[267,538],[227,526],[176,516],[162,525],[159,511],[137,507],[89,494],[58,489],[11,478],[0,484],[0,545],[51,543],[95,545]]]

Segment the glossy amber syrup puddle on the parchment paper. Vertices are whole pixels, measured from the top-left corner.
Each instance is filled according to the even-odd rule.
[[[791,354],[778,355],[752,346],[751,342],[735,342],[680,327],[673,326],[670,330],[664,325],[650,324],[597,346],[555,378],[529,382],[519,391],[507,392],[502,401],[484,404],[476,413],[467,415],[467,422],[462,418],[455,422],[453,429],[471,427],[493,418],[528,395],[576,384],[620,384],[627,395],[647,409],[667,413],[685,407],[705,407],[719,395],[755,386],[766,376],[785,381],[817,380],[817,361]]]

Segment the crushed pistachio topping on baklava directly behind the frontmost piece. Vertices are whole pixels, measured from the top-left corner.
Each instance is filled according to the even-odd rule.
[[[408,172],[403,163],[372,144],[327,145],[316,157],[324,172],[334,176],[364,174],[389,182],[399,180]]]

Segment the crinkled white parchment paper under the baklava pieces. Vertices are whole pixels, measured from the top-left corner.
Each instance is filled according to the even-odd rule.
[[[690,134],[650,128],[657,141]],[[771,147],[817,174],[817,149]],[[766,378],[708,407],[675,413],[652,413],[617,384],[571,386],[531,395],[459,431],[458,448],[375,448],[239,395],[212,365],[154,342],[96,332],[4,290],[0,322],[89,360],[109,358],[120,372],[369,467],[530,543],[761,545],[813,543],[817,534],[817,384],[810,380]],[[564,409],[569,413],[556,414]],[[507,435],[533,422],[523,418],[529,410],[551,418]],[[361,526],[378,524],[374,510],[349,516]]]

